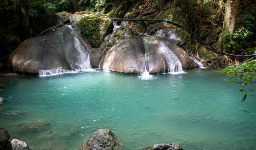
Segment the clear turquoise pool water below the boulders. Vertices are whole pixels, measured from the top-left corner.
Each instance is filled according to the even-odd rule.
[[[127,150],[163,142],[185,150],[256,149],[255,96],[241,103],[237,85],[220,83],[225,76],[216,74],[193,69],[153,80],[103,71],[1,77],[6,102],[0,126],[36,150],[75,150],[99,128],[111,129]],[[50,125],[22,132],[18,125],[31,120]]]

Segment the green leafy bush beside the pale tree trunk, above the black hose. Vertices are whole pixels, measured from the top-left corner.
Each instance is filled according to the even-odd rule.
[[[256,45],[252,43],[248,45],[247,43],[251,40],[251,36],[255,35],[256,18],[252,15],[243,15],[245,21],[245,26],[238,28],[234,33],[225,32],[222,35],[224,41],[224,47],[230,48],[231,50],[236,50],[236,52],[254,53],[256,50]]]

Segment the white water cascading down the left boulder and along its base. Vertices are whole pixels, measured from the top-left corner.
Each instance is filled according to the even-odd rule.
[[[89,59],[90,49],[75,29],[73,29],[71,25],[65,25],[58,30],[57,34],[60,39],[62,49],[66,55],[66,62],[68,63],[70,70],[63,68],[39,70],[39,75],[56,75],[77,70],[92,71]]]

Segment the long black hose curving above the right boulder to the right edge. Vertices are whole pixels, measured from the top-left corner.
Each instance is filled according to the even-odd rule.
[[[217,48],[205,43],[202,39],[200,39],[199,37],[197,37],[192,31],[190,31],[189,29],[187,29],[186,27],[184,27],[183,25],[181,24],[178,24],[176,22],[173,22],[173,21],[170,21],[170,20],[153,20],[153,19],[129,19],[129,18],[111,18],[113,20],[127,20],[127,21],[156,21],[156,22],[167,22],[167,23],[171,23],[173,25],[176,25],[178,27],[181,27],[185,30],[187,30],[191,35],[193,35],[199,42],[201,42],[202,44],[210,47],[211,49],[217,51],[217,52],[220,52],[220,53],[223,53],[223,54],[226,54],[226,55],[230,55],[230,56],[235,56],[235,57],[255,57],[256,54],[251,54],[251,55],[236,55],[236,54],[230,54],[230,53],[226,53],[226,52],[223,52],[223,51],[220,51],[218,50]]]

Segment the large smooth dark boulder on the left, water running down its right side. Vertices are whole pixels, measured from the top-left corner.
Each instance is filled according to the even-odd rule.
[[[90,49],[71,25],[22,42],[7,65],[16,73],[60,73],[90,68]],[[44,71],[48,70],[48,71]]]

